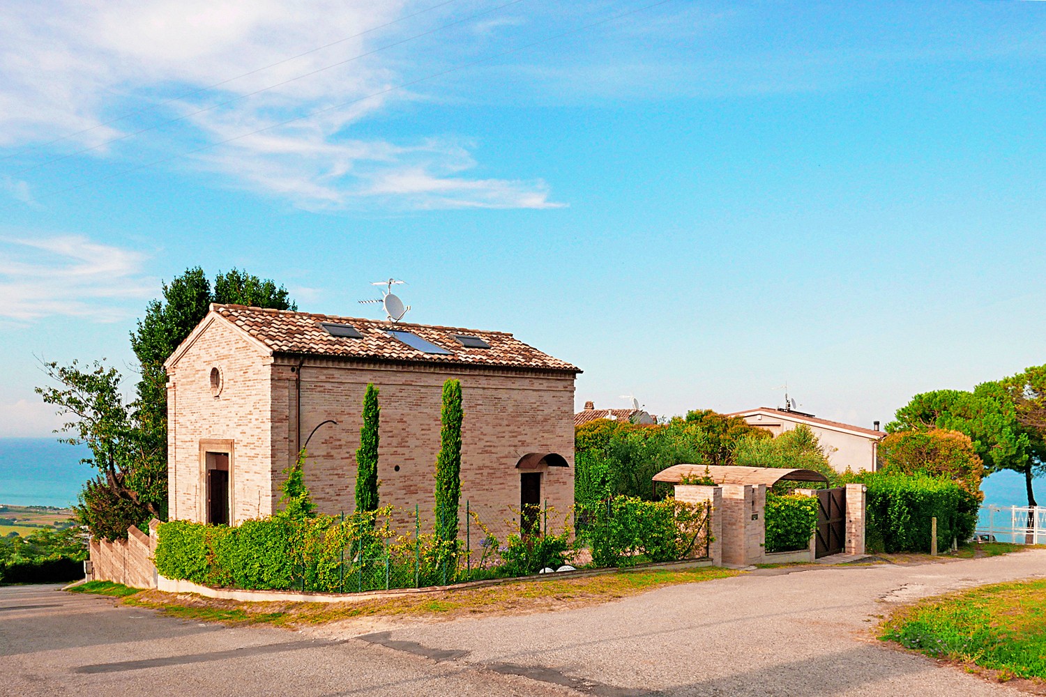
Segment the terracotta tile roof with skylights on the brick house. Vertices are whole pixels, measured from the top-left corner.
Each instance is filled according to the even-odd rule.
[[[294,353],[334,357],[391,361],[396,363],[464,364],[530,370],[554,370],[579,373],[578,368],[553,358],[502,331],[480,331],[459,327],[439,327],[406,322],[383,322],[354,317],[336,317],[290,310],[262,309],[244,305],[212,304],[211,311],[225,318],[262,342],[275,353]],[[351,325],[363,339],[332,336],[321,322]],[[450,351],[449,354],[425,353],[407,346],[386,331],[410,331]],[[467,348],[454,334],[478,336],[491,348]]]

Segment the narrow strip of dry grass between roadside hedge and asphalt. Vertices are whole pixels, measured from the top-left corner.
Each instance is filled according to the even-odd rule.
[[[620,572],[561,581],[521,581],[356,603],[242,603],[200,596],[144,591],[124,602],[172,617],[224,624],[315,625],[359,618],[441,618],[478,613],[539,612],[608,602],[646,590],[736,576],[712,566],[684,571]]]

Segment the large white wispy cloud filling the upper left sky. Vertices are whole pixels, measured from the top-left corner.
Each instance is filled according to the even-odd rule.
[[[143,158],[157,159],[158,153],[163,159],[205,147],[187,162],[220,175],[219,185],[278,196],[309,209],[554,205],[543,181],[470,176],[476,163],[468,153],[462,156],[464,146],[438,133],[388,137],[370,127],[365,136],[358,133],[368,119],[432,98],[409,90],[369,95],[446,65],[433,57],[441,47],[448,48],[445,53],[450,56],[444,60],[468,56],[470,42],[482,43],[496,28],[518,24],[520,20],[511,15],[485,16],[483,23],[437,31],[427,40],[411,42],[408,49],[364,55],[297,79],[483,8],[455,3],[218,90],[188,94],[432,3],[49,0],[45,4],[46,8],[16,7],[10,20],[0,23],[0,146],[46,144],[55,134],[90,129],[142,103],[160,102],[156,110],[47,146],[44,159],[179,118],[175,124],[98,147],[90,155],[133,165]],[[47,71],[47,80],[39,79],[41,70]],[[234,101],[227,103],[230,100]],[[345,106],[332,109],[332,104]],[[323,110],[321,115],[285,123],[319,110]],[[244,135],[251,132],[258,133]],[[35,160],[24,162],[31,166]]]

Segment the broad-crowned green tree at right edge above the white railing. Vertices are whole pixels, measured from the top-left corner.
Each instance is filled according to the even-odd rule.
[[[1028,505],[1034,506],[1031,480],[1043,470],[1046,444],[1027,411],[1024,417],[1019,415],[1016,400],[1023,394],[1022,375],[982,382],[973,392],[917,394],[897,410],[896,419],[886,424],[886,431],[943,428],[969,436],[987,473],[1010,469],[1024,474]]]

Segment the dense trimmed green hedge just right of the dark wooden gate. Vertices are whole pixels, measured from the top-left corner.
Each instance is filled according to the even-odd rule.
[[[929,552],[931,519],[937,518],[937,549],[970,539],[977,525],[978,497],[956,482],[926,474],[861,473],[867,486],[865,548],[869,552]]]

